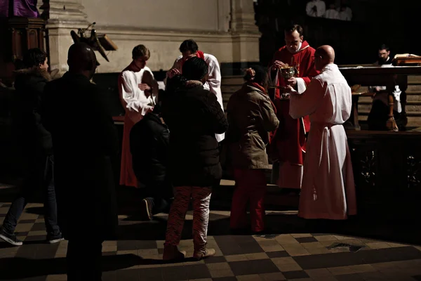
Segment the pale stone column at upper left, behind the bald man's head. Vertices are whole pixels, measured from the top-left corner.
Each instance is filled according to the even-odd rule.
[[[51,70],[58,69],[59,74],[63,74],[68,69],[67,50],[73,44],[70,31],[77,32],[78,28],[86,28],[89,22],[80,0],[50,0],[44,4],[48,9],[46,27]]]

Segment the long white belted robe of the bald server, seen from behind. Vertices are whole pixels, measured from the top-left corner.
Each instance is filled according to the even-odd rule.
[[[309,115],[298,216],[346,219],[356,214],[354,174],[342,126],[351,115],[352,95],[338,65],[329,64],[307,90],[290,94],[290,116]]]

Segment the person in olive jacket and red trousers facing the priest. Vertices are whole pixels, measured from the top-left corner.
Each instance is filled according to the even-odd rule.
[[[265,230],[265,169],[269,169],[266,147],[270,133],[279,126],[274,106],[267,95],[268,75],[263,67],[246,70],[246,83],[234,93],[227,105],[228,159],[234,171],[232,230],[246,228],[246,206],[250,203],[251,230]]]

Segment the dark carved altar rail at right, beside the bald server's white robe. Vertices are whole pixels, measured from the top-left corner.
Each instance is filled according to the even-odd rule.
[[[421,213],[421,131],[347,131],[359,214]]]

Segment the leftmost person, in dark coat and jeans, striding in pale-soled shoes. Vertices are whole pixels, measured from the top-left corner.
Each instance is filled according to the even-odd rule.
[[[0,238],[15,246],[22,245],[15,235],[18,219],[28,200],[40,189],[44,192],[44,221],[47,241],[60,242],[62,234],[57,223],[57,204],[53,178],[53,144],[51,134],[41,124],[41,93],[47,82],[47,54],[39,48],[25,53],[25,68],[16,71],[12,120],[16,143],[22,152],[25,178],[20,195],[12,202],[0,229]]]

